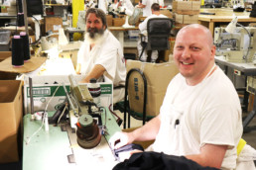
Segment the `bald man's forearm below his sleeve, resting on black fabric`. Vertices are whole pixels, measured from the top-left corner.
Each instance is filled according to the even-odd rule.
[[[200,154],[187,155],[201,166],[220,168],[227,150],[227,145],[205,144],[200,148]]]

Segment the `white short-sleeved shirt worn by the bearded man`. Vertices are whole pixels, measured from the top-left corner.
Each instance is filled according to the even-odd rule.
[[[114,87],[125,84],[126,68],[123,56],[123,49],[120,42],[106,30],[103,40],[90,50],[89,42],[84,41],[77,53],[77,63],[81,65],[81,74],[88,74],[94,65],[102,65],[106,72],[98,81],[113,83]],[[123,94],[116,94],[123,91],[115,91],[114,96],[123,98]],[[114,99],[115,100],[115,99]]]

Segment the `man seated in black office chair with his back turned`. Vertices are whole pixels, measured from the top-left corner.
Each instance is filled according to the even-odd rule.
[[[141,24],[139,24],[139,30],[141,31],[141,34],[143,34],[145,36],[147,35],[147,24],[148,24],[149,19],[152,19],[152,18],[167,18],[167,16],[165,16],[163,14],[160,14],[160,6],[159,6],[158,3],[153,3],[152,4],[151,11],[152,11],[152,15],[147,17]],[[146,37],[146,42],[148,42],[147,38],[148,37]],[[140,55],[141,52],[142,52],[142,48],[143,48],[142,45],[141,45],[141,39],[139,39],[139,41],[138,41],[137,48],[138,48],[138,53]],[[141,55],[140,60],[143,61],[143,62],[146,62],[147,57],[148,57],[147,50],[144,50],[142,55]],[[156,62],[157,58],[158,58],[158,50],[152,50],[151,62]]]

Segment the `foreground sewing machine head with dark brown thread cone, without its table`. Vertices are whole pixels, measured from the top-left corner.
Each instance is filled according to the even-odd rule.
[[[99,106],[94,103],[86,85],[78,85],[72,75],[69,75],[68,78],[71,92],[68,97],[70,127],[76,128],[79,146],[93,148],[101,140],[102,122]]]

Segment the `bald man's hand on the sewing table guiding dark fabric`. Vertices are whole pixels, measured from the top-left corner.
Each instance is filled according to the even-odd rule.
[[[126,144],[132,143],[133,140],[131,138],[130,133],[118,131],[109,139],[109,144],[112,149],[118,149]]]

